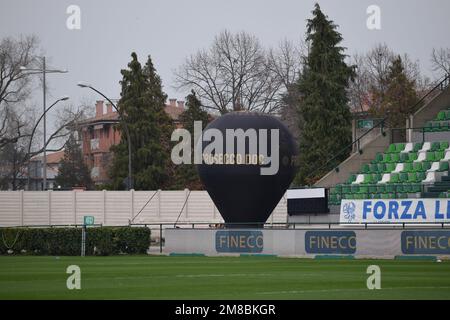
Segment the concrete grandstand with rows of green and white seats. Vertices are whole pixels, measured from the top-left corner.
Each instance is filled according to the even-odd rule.
[[[391,129],[383,119],[363,132],[350,157],[316,183],[329,189],[330,213],[343,199],[450,197],[449,76],[411,110],[405,128]]]

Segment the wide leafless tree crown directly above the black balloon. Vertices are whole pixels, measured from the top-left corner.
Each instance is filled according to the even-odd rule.
[[[175,72],[177,88],[193,88],[220,113],[276,112],[282,94],[298,75],[300,59],[294,49],[285,41],[277,50],[265,50],[252,35],[223,31],[208,50],[191,55]]]

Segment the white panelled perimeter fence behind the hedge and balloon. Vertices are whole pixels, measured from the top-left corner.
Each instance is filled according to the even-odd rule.
[[[0,227],[82,224],[83,216],[94,216],[96,224],[105,226],[123,226],[130,221],[174,223],[177,219],[189,223],[223,222],[206,191],[0,192]],[[267,222],[286,220],[283,197]]]

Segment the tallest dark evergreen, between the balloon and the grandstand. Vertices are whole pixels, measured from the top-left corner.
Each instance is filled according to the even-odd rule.
[[[311,183],[331,168],[321,168],[351,142],[351,113],[346,94],[354,68],[345,63],[342,36],[318,4],[308,19],[306,41],[309,54],[298,80],[299,117],[302,136],[299,148],[299,172],[296,183]],[[334,160],[344,160],[348,152]],[[309,175],[313,174],[313,177]],[[307,178],[310,179],[307,179]]]

